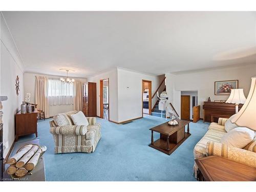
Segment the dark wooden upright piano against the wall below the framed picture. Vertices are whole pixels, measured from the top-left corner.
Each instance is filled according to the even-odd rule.
[[[238,105],[238,110],[242,108],[243,104]],[[211,122],[213,115],[213,122],[218,122],[218,117],[228,118],[236,113],[236,105],[224,102],[204,102],[204,121]]]

